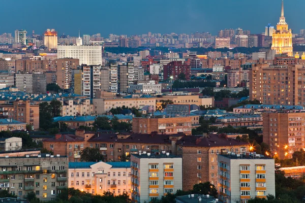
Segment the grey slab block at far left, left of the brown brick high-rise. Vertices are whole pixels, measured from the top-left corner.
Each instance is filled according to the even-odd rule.
[[[46,75],[42,73],[17,73],[15,85],[29,94],[45,94],[47,89]]]

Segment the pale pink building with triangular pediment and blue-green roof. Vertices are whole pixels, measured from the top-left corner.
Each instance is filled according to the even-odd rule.
[[[130,162],[69,162],[69,187],[92,194],[131,194]]]

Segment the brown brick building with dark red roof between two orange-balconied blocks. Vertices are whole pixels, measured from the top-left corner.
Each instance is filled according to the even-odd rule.
[[[183,190],[209,181],[218,184],[217,155],[249,150],[249,144],[228,138],[224,134],[185,136],[176,142],[177,156],[182,157]]]

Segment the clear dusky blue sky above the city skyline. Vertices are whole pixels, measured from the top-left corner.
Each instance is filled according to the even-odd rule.
[[[281,0],[9,0],[1,1],[0,33],[26,29],[58,36],[101,33],[101,36],[142,33],[211,32],[240,27],[251,33],[276,26]],[[285,17],[294,33],[305,29],[304,0],[285,0]]]

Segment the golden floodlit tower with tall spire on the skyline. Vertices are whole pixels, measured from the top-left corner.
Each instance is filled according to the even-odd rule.
[[[276,54],[293,55],[292,51],[292,31],[288,29],[288,24],[284,16],[284,0],[282,0],[282,10],[280,21],[277,24],[277,29],[272,33],[272,50],[276,50]]]

